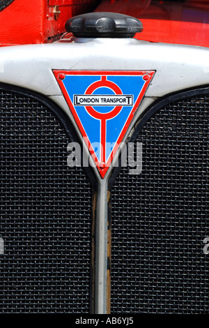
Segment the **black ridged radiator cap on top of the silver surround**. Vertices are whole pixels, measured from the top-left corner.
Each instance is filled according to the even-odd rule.
[[[143,30],[137,18],[118,13],[87,13],[70,18],[65,29],[78,38],[132,38]]]

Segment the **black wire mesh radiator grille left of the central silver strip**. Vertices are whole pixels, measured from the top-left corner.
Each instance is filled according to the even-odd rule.
[[[49,107],[0,90],[0,118],[0,311],[86,313],[91,186]]]

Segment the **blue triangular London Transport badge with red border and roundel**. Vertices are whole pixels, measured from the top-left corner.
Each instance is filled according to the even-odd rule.
[[[54,70],[102,179],[154,73],[154,70]]]

